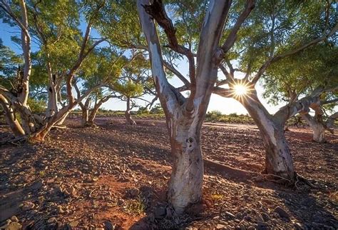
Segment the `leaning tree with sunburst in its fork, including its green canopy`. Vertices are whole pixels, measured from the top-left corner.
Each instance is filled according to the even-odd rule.
[[[250,23],[242,26],[238,33],[234,49],[220,65],[226,79],[217,81],[215,87],[216,94],[240,101],[260,129],[266,149],[265,173],[291,183],[296,174],[283,126],[291,116],[314,103],[325,89],[318,88],[309,96],[283,106],[276,114],[269,114],[258,99],[255,85],[272,64],[277,65],[285,57],[335,34],[338,25],[332,14],[334,7],[323,2],[260,1]],[[238,14],[236,12],[233,14]],[[235,77],[235,72],[242,73],[242,79]],[[228,89],[219,87],[223,84],[227,84]]]

